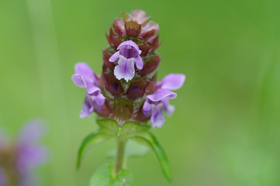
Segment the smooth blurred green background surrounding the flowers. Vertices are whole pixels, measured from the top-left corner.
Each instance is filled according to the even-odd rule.
[[[102,49],[120,11],[142,9],[159,23],[158,79],[186,75],[170,103],[174,115],[152,132],[170,160],[169,184],[152,153],[129,159],[135,186],[280,185],[280,1],[0,2],[0,126],[16,135],[44,118],[52,160],[37,169],[44,186],[87,186],[111,163],[109,141],[75,169],[82,139],[97,129],[80,119],[85,89],[71,81],[74,64],[101,72]]]

